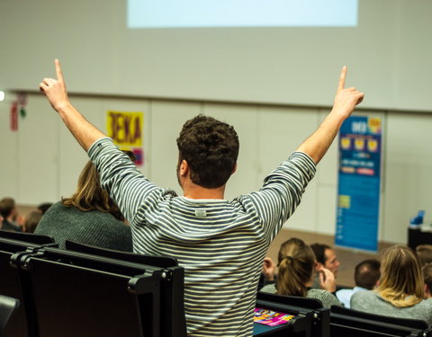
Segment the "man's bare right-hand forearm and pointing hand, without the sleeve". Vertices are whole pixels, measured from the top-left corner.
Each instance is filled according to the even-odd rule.
[[[333,109],[320,127],[308,137],[297,151],[310,155],[315,164],[326,154],[329,146],[338,135],[338,131],[347,118],[356,108],[356,105],[363,101],[364,93],[360,93],[356,88],[345,88],[345,78],[347,67],[342,68],[339,77],[338,92],[336,93]]]

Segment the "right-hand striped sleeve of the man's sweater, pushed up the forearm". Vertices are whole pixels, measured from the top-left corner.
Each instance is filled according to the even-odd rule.
[[[315,172],[316,164],[309,155],[294,152],[266,177],[260,191],[250,194],[270,241],[300,204],[302,194]]]

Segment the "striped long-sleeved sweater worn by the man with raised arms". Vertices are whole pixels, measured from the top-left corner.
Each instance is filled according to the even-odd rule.
[[[262,262],[315,173],[311,158],[294,152],[260,191],[228,201],[190,200],[157,187],[110,138],[88,154],[130,222],[134,252],[171,255],[184,267],[188,335],[252,335]]]

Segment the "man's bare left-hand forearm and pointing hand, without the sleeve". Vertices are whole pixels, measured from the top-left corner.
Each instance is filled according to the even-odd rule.
[[[43,82],[40,83],[40,91],[47,95],[49,103],[65,122],[67,129],[76,137],[76,140],[85,151],[88,151],[97,139],[106,136],[88,120],[85,120],[84,116],[69,102],[60,62],[56,59],[54,63],[57,80],[54,78],[44,78]]]

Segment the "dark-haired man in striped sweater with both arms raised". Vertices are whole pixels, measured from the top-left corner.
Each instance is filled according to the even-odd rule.
[[[177,177],[184,192],[149,182],[112,139],[89,123],[67,98],[58,60],[57,79],[45,93],[87,151],[101,183],[130,222],[134,252],[164,254],[184,267],[184,306],[190,336],[250,336],[257,282],[268,245],[300,203],[315,166],[364,94],[345,88],[343,67],[333,109],[256,192],[224,200],[237,166],[238,137],[226,123],[203,115],[184,123],[177,138]]]

